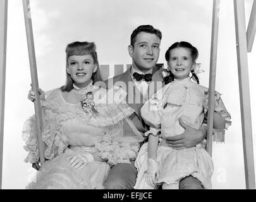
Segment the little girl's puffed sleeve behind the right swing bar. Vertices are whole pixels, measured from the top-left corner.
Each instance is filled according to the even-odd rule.
[[[221,99],[221,94],[216,92],[215,93],[215,100],[214,100],[214,112],[218,112],[224,119],[224,128],[223,129],[213,129],[214,133],[214,141],[216,142],[224,142],[224,134],[225,129],[228,129],[231,126],[231,116],[226,110],[226,107]],[[204,112],[205,115],[208,110],[208,92],[205,92],[205,102],[204,102]]]

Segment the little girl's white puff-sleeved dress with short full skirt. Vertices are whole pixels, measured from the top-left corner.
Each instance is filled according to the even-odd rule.
[[[146,133],[160,134],[160,143],[157,148],[157,162],[159,175],[157,184],[178,184],[188,175],[197,178],[205,189],[211,188],[210,177],[214,166],[212,158],[205,150],[206,140],[193,148],[175,150],[166,144],[166,137],[176,136],[185,131],[180,126],[179,118],[195,129],[199,129],[204,121],[204,112],[207,111],[208,89],[185,78],[174,80],[165,85],[150,98],[142,107],[141,114],[149,124],[150,130]],[[231,125],[230,115],[227,112],[216,92],[214,110],[226,120],[227,129]],[[224,135],[224,131],[214,129],[214,140]],[[218,141],[218,140],[217,140]],[[138,153],[135,166],[138,169],[135,189],[149,189],[145,182],[147,172],[148,145],[145,143]]]

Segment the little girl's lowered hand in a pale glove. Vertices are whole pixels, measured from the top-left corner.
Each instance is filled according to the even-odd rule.
[[[147,173],[146,173],[146,182],[149,184],[149,186],[155,187],[155,184],[157,182],[157,177],[159,175],[159,170],[158,170],[158,163],[156,160],[153,158],[149,158],[147,160],[148,162],[148,167],[147,167]]]

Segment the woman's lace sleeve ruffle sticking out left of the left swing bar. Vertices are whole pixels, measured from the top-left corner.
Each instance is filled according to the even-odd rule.
[[[24,149],[28,151],[25,162],[39,162],[39,149],[37,145],[37,128],[35,115],[28,118],[23,125],[22,139],[25,141]]]

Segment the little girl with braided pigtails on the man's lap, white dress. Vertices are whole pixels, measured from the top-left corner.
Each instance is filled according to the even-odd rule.
[[[145,133],[149,141],[142,146],[135,161],[138,169],[135,189],[154,189],[156,185],[162,185],[162,189],[179,189],[181,179],[190,175],[205,189],[210,189],[214,167],[205,150],[206,140],[196,147],[181,150],[170,148],[166,143],[168,136],[183,133],[180,121],[195,129],[204,121],[208,89],[198,85],[193,72],[198,50],[188,42],[176,42],[166,51],[165,57],[171,83],[156,92],[141,109],[150,130]],[[197,83],[190,80],[190,73]],[[231,124],[230,115],[217,92],[215,100],[214,111],[222,121],[214,133],[221,136],[224,128]]]

